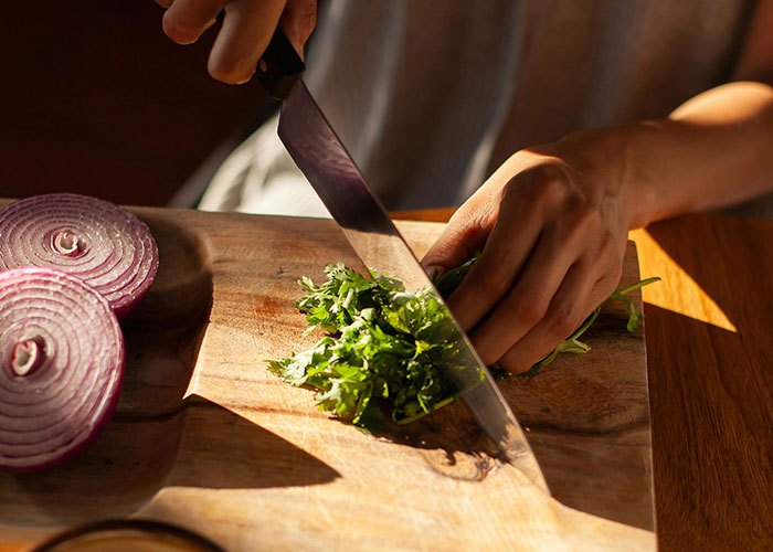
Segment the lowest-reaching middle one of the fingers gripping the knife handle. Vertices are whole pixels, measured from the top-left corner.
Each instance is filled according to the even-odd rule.
[[[234,0],[227,3],[223,28],[210,52],[210,75],[230,84],[250,81],[284,7],[285,0]]]

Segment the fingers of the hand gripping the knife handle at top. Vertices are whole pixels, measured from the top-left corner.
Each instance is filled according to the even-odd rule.
[[[317,18],[316,0],[156,0],[166,8],[163,32],[178,44],[199,40],[224,11],[207,68],[230,84],[247,82],[277,25],[303,56]]]

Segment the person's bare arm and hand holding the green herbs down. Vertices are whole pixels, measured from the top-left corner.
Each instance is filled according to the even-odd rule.
[[[761,43],[748,46],[738,78],[773,75]],[[629,229],[766,191],[772,150],[763,83],[720,86],[665,119],[575,132],[513,155],[424,264],[483,251],[449,306],[486,362],[522,372],[616,287]]]

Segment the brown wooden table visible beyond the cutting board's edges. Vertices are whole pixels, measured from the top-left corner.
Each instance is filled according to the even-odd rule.
[[[632,238],[664,278],[644,293],[659,549],[770,549],[773,224],[693,215]]]

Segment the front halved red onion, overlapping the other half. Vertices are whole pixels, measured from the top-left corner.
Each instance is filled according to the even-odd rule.
[[[44,469],[85,449],[123,374],[124,337],[102,295],[51,268],[0,273],[0,469]]]

